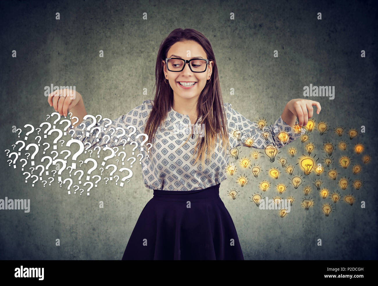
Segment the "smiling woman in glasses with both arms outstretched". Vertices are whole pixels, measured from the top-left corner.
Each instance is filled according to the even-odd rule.
[[[139,216],[122,260],[244,260],[234,223],[219,197],[220,182],[226,179],[227,151],[237,146],[281,148],[284,144],[277,135],[288,134],[285,144],[298,138],[304,129],[294,132],[296,117],[300,126],[306,125],[312,105],[318,106],[318,114],[320,105],[291,100],[274,125],[261,130],[231,104],[223,103],[211,45],[194,29],[175,29],[163,40],[155,75],[154,100],[144,100],[111,124],[108,120],[96,123],[92,128],[101,127],[100,134],[94,129],[86,137],[78,126],[87,115],[78,92],[62,97],[63,90],[55,91],[48,102],[61,115],[72,112],[72,117],[79,118],[72,119],[73,138],[90,142],[90,148],[123,145],[122,138],[128,139],[127,144],[138,143],[144,183],[153,189],[153,198]],[[88,120],[85,126],[91,123]],[[117,127],[121,130],[112,130],[112,135],[109,129]],[[116,138],[123,130],[125,135]],[[267,139],[266,131],[270,131]],[[148,135],[143,146],[146,137],[136,138],[142,133]],[[252,145],[247,138],[253,139]]]

